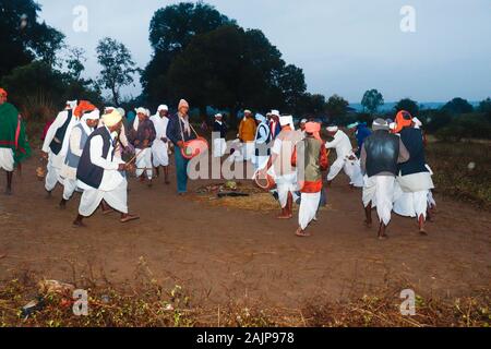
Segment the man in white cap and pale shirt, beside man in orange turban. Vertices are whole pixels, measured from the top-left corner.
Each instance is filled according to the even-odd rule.
[[[271,149],[271,158],[261,176],[266,176],[273,167],[273,174],[278,190],[278,201],[282,206],[279,219],[294,217],[294,193],[297,191],[297,170],[291,165],[295,146],[301,141],[300,133],[295,131],[294,117],[279,118],[282,132],[276,137]]]

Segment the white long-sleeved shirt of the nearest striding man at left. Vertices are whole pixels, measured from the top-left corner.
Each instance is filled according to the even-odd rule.
[[[104,169],[103,180],[99,185],[99,190],[104,192],[115,190],[121,184],[123,180],[125,180],[122,177],[122,174],[118,171],[119,165],[124,164],[124,161],[116,157],[111,160],[111,155],[115,149],[115,147],[112,146],[113,141],[115,137],[111,134],[111,144],[109,146],[109,152],[107,153],[106,158],[103,157],[103,147],[104,147],[103,136],[96,135],[91,141],[91,163]],[[92,186],[85,184],[82,181],[79,181],[79,186],[84,190],[93,189]]]

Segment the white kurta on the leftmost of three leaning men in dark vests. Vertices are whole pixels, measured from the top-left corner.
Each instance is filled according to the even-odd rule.
[[[51,152],[49,145],[55,140],[58,129],[60,129],[67,121],[67,118],[69,118],[68,110],[63,110],[58,113],[53,123],[49,127],[48,132],[46,133],[45,142],[43,144],[43,152],[48,153],[48,165],[47,165],[48,171],[46,173],[46,181],[45,181],[45,189],[48,192],[51,192],[58,182],[63,184],[63,179],[60,176],[60,171],[64,164],[64,158],[67,156],[69,147],[69,139],[70,139],[69,135],[71,134],[73,127],[75,127],[77,123],[76,119],[72,118],[72,120],[69,123],[69,127],[67,128],[64,139],[59,140],[61,142],[61,151],[58,155]]]

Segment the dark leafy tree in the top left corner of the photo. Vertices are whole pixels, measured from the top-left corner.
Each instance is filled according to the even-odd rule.
[[[34,0],[0,0],[0,79],[34,59],[56,64],[64,35],[38,22],[40,9]]]

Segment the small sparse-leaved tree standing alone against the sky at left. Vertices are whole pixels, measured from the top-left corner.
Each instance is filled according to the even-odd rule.
[[[133,75],[140,70],[133,61],[130,50],[121,43],[104,38],[97,46],[97,60],[103,67],[97,83],[112,94],[116,106],[120,105],[120,88],[133,83]]]

